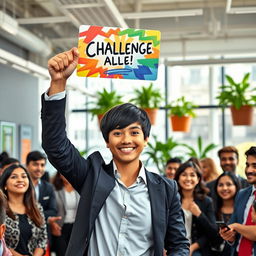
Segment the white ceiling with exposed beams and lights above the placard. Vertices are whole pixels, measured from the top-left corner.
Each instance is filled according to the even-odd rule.
[[[0,0],[0,10],[51,55],[77,45],[81,24],[160,30],[164,58],[256,53],[256,0]]]

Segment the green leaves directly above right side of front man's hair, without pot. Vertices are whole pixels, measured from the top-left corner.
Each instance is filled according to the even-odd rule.
[[[163,100],[159,89],[153,88],[153,83],[148,87],[142,86],[140,89],[134,90],[135,97],[130,102],[141,108],[159,108]]]

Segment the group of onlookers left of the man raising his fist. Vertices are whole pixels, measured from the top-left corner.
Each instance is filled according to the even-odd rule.
[[[1,158],[0,202],[5,209],[1,224],[5,225],[0,239],[9,254],[0,251],[0,255],[43,256],[51,251],[65,255],[78,193],[59,173],[49,182],[46,156],[39,151],[27,155],[26,167],[5,152]]]

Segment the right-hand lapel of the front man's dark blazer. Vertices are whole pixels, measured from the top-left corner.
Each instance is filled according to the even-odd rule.
[[[165,189],[162,179],[146,171],[148,192],[151,204],[154,244],[157,250],[161,240],[159,237],[165,233],[167,209],[165,208]],[[163,203],[164,202],[164,203]]]

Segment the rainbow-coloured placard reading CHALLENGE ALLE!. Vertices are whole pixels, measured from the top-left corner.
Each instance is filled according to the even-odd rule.
[[[156,80],[160,31],[82,25],[77,75]]]

